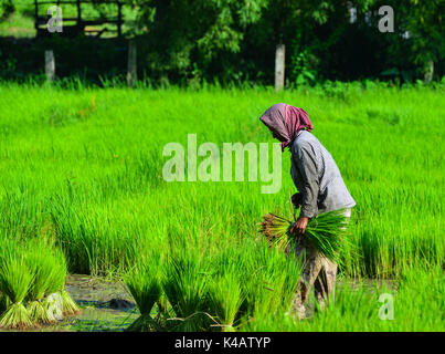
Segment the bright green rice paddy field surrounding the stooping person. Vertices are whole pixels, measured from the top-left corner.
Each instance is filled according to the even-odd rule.
[[[301,321],[289,315],[301,264],[258,232],[267,212],[292,215],[290,154],[275,194],[247,168],[244,181],[188,180],[187,158],[184,181],[162,176],[165,146],[180,143],[187,157],[189,134],[221,152],[268,143],[272,169],[259,116],[278,102],[308,112],[357,201],[335,302]],[[63,290],[71,273],[124,283],[139,314],[131,331],[444,331],[444,122],[441,84],[2,83],[0,325],[51,325],[35,308],[54,292],[67,299],[63,315],[77,313]]]

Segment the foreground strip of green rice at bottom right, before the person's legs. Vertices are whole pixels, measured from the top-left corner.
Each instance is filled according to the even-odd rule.
[[[345,278],[335,301],[299,321],[286,309],[257,311],[241,331],[443,332],[445,274],[441,267],[406,270],[390,281]],[[316,299],[311,299],[316,302]],[[392,316],[385,317],[385,306]],[[383,315],[383,316],[382,316]]]

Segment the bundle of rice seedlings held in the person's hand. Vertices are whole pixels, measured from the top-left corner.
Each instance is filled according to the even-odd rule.
[[[303,236],[289,232],[293,223],[274,214],[267,214],[261,222],[259,232],[267,237],[269,244],[275,244],[279,249],[285,249],[289,243],[295,244],[301,237],[326,258],[340,262],[341,250],[349,246],[349,240],[346,238],[348,219],[345,209],[324,212],[310,219]]]

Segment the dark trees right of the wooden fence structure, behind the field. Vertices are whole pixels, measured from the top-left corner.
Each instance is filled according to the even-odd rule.
[[[273,83],[275,50],[286,81],[444,75],[445,0],[125,0],[137,9],[130,37],[138,66],[153,80]],[[0,14],[14,0],[0,0]],[[379,8],[394,11],[380,32]]]

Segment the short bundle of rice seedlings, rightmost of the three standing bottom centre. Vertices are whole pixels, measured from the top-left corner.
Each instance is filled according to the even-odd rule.
[[[233,325],[244,301],[237,275],[226,272],[213,278],[208,291],[210,312],[216,316],[219,322],[218,325],[212,326],[220,326],[224,332],[234,332]]]

